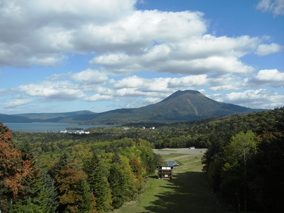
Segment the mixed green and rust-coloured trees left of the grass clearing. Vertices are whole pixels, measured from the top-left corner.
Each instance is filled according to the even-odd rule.
[[[63,139],[42,150],[22,134],[14,141],[0,123],[1,212],[109,212],[139,193],[160,160],[143,139]]]

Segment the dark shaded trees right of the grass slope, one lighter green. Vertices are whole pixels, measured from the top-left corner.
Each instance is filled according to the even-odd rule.
[[[214,137],[202,158],[212,189],[238,211],[282,212],[284,110],[274,122],[245,129],[230,139]]]

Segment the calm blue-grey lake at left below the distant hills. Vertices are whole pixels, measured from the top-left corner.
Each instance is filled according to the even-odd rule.
[[[90,127],[99,126],[116,126],[116,125],[78,125],[78,124],[67,124],[67,123],[4,123],[9,129],[13,131],[20,132],[45,132],[46,130],[51,130],[58,132],[60,130],[65,130],[66,127],[78,127],[87,129]],[[67,130],[76,132],[77,130]]]

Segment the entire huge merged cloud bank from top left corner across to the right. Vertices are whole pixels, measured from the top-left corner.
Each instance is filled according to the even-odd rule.
[[[113,75],[144,70],[248,74],[254,67],[244,64],[242,56],[270,54],[281,48],[274,43],[261,45],[260,38],[248,35],[229,38],[206,34],[208,24],[201,12],[137,11],[136,3],[3,1],[0,28],[6,30],[0,32],[0,66],[53,67],[64,64],[71,53],[94,54],[90,65]]]

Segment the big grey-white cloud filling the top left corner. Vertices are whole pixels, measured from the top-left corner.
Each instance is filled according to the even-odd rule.
[[[55,66],[66,53],[86,53],[75,42],[82,28],[133,12],[134,0],[4,0],[0,5],[0,66]],[[87,51],[87,53],[94,50]]]

